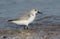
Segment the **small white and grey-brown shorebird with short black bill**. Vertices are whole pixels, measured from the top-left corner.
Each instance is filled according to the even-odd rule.
[[[15,23],[18,25],[25,25],[25,27],[27,27],[27,29],[28,29],[28,25],[33,22],[37,13],[42,14],[42,12],[39,12],[36,9],[32,9],[27,14],[20,16],[18,19],[8,20],[8,22],[12,22],[12,23]],[[25,29],[25,27],[24,27],[24,29]]]

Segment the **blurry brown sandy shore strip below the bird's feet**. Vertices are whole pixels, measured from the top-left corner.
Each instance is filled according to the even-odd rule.
[[[0,39],[59,39],[60,32],[49,30],[0,30]]]

